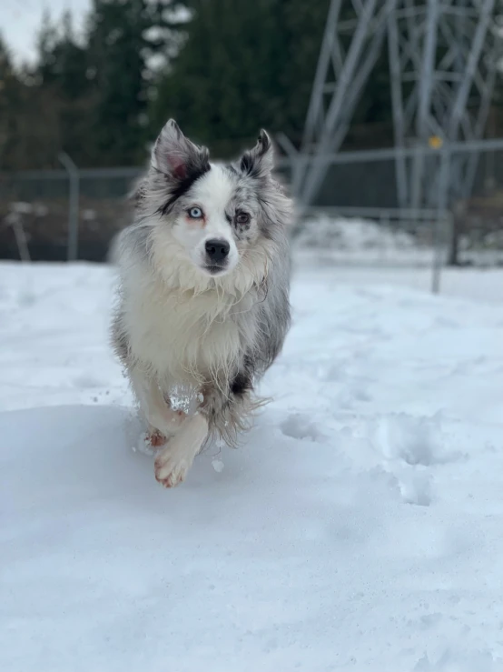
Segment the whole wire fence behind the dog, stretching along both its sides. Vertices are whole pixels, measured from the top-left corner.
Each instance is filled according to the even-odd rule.
[[[330,253],[337,263],[428,264],[433,278],[448,263],[503,264],[503,141],[451,145],[444,153],[421,150],[427,169],[439,170],[446,151],[449,184],[470,179],[472,194],[451,197],[449,210],[429,205],[435,194],[422,194],[420,207],[400,201],[400,167],[413,174],[416,150],[322,157],[327,174],[314,203],[301,208],[296,245]],[[278,173],[295,186],[300,162],[311,160],[282,156]],[[75,168],[1,175],[0,258],[103,261],[128,221],[125,196],[142,172]]]

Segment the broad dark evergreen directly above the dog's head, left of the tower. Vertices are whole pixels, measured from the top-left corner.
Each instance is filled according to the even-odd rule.
[[[169,115],[226,155],[260,126],[301,138],[329,0],[199,0],[173,69],[158,83],[157,129]]]

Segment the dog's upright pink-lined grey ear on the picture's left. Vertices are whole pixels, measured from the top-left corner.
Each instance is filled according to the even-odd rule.
[[[153,145],[151,162],[155,170],[182,182],[210,169],[210,153],[206,147],[194,145],[170,119]]]

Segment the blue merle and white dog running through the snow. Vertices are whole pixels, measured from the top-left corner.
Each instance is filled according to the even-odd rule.
[[[238,161],[212,163],[170,119],[115,242],[113,347],[165,487],[213,437],[237,445],[288,332],[293,204],[273,164],[263,130]]]

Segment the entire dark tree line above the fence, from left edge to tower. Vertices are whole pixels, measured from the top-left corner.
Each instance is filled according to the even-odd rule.
[[[141,165],[169,116],[222,157],[260,126],[298,145],[329,4],[93,0],[78,35],[70,14],[45,16],[33,65],[0,37],[0,170],[54,167],[62,150],[81,167]],[[388,73],[384,49],[355,117],[382,123],[380,144]]]

